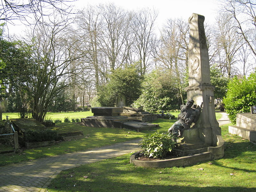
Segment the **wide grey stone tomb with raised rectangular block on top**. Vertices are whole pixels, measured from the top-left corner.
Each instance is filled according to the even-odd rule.
[[[136,117],[121,116],[122,112],[122,107],[95,107],[92,108],[93,116],[82,118],[81,124],[88,127],[125,128],[138,132],[159,126],[136,120]]]

